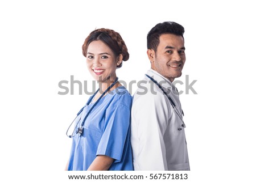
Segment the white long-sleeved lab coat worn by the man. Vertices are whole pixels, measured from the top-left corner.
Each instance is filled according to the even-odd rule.
[[[147,75],[160,82],[181,114],[179,94],[172,83],[152,69]],[[163,91],[146,76],[133,96],[131,146],[134,170],[189,170],[183,121]]]

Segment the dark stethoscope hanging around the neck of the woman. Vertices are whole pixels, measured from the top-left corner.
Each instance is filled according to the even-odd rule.
[[[81,125],[79,126],[79,128],[77,128],[77,126],[79,125],[80,123],[80,120],[81,120],[81,116],[80,116],[80,119],[79,121],[77,121],[77,124],[75,126],[75,129],[73,130],[72,134],[71,135],[68,135],[68,131],[69,129],[71,128],[73,122],[75,122],[76,118],[80,115],[80,113],[84,110],[84,108],[89,105],[91,102],[92,102],[92,99],[94,98],[94,96],[98,93],[98,91],[100,91],[100,88],[98,88],[98,90],[93,94],[93,96],[87,101],[86,105],[84,107],[81,108],[81,110],[79,111],[79,113],[77,113],[75,119],[71,122],[71,124],[68,126],[68,129],[67,129],[67,132],[66,132],[66,135],[69,137],[69,138],[73,138],[75,137],[78,133],[79,135],[81,136],[84,128],[84,122],[86,120],[86,118],[89,116],[90,112],[92,111],[92,109],[96,106],[96,104],[101,100],[101,98],[106,94],[106,92],[108,92],[116,83],[118,82],[118,77],[115,79],[114,83],[112,83],[100,96],[100,98],[98,98],[98,100],[92,105],[92,107],[89,109],[89,111],[86,113],[85,117],[84,117],[84,120],[82,120],[81,122]]]

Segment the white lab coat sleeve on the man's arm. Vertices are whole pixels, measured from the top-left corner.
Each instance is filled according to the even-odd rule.
[[[131,109],[134,170],[167,170],[164,132],[170,113],[163,95],[141,95]]]

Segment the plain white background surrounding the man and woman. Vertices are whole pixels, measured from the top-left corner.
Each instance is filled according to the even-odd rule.
[[[0,178],[63,175],[71,147],[65,132],[88,95],[58,95],[58,83],[71,75],[92,81],[81,52],[91,31],[121,34],[130,59],[117,75],[138,82],[150,68],[147,32],[174,21],[185,28],[187,61],[179,80],[197,80],[197,95],[180,95],[190,181],[253,181],[255,16],[246,0],[1,1]]]

